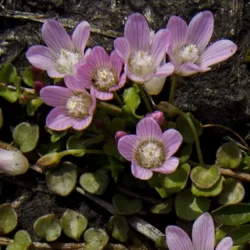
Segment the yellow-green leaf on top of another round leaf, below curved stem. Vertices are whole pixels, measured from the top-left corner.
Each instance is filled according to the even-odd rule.
[[[209,168],[195,167],[192,169],[190,178],[199,189],[210,189],[213,187],[220,179],[220,171],[216,165]]]

